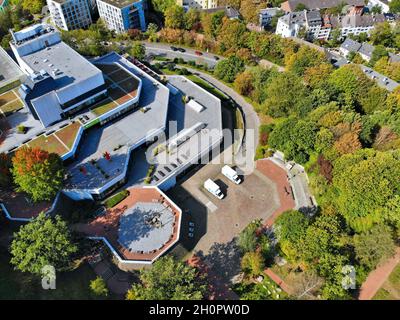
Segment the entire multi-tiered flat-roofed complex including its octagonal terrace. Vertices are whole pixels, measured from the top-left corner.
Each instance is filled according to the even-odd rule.
[[[179,240],[182,212],[163,191],[220,150],[221,101],[183,76],[160,79],[116,53],[89,61],[47,25],[12,37],[19,67],[8,58],[8,69],[22,84],[0,91],[0,152],[58,154],[67,171],[61,194],[74,201],[127,189],[107,219],[81,232],[103,240],[122,264],[151,264]]]

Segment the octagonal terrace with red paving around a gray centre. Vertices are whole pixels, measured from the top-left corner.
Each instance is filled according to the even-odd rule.
[[[129,192],[128,198],[77,230],[107,239],[124,260],[154,261],[178,241],[182,211],[158,188]]]

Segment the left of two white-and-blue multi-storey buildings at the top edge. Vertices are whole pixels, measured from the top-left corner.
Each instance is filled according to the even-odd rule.
[[[87,28],[92,23],[89,0],[47,0],[51,19],[62,30]]]

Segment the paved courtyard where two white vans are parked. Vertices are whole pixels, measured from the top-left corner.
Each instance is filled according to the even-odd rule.
[[[208,164],[168,192],[188,213],[181,235],[188,250],[207,254],[213,245],[232,241],[252,220],[266,221],[280,207],[276,184],[261,172],[244,176],[243,182],[236,185],[221,174],[221,167]],[[203,188],[207,178],[220,186],[224,199],[217,199]],[[187,236],[185,224],[189,221],[196,225],[193,239]]]

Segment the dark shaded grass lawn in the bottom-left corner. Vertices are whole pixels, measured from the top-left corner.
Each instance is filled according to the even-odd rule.
[[[58,274],[56,289],[44,290],[40,278],[15,271],[9,264],[9,259],[7,253],[0,252],[0,299],[95,299],[90,292],[89,283],[96,278],[96,274],[88,264],[83,264],[74,271]]]

